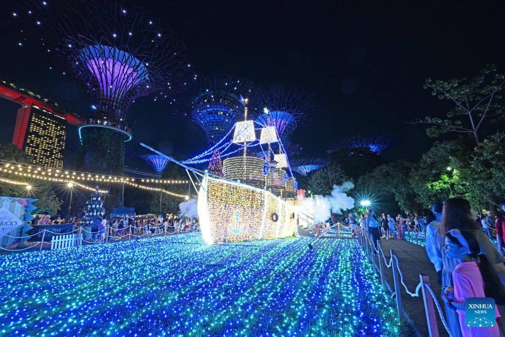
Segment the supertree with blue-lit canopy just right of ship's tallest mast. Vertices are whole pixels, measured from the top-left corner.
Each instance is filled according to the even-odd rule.
[[[275,126],[277,134],[282,137],[312,112],[314,95],[310,91],[274,86],[260,91],[256,102],[264,108],[256,122],[264,127]]]

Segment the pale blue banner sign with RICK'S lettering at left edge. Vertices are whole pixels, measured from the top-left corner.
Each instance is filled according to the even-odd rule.
[[[26,232],[32,227],[28,221],[35,210],[32,202],[36,199],[0,197],[0,244],[6,249],[23,247],[28,239]]]

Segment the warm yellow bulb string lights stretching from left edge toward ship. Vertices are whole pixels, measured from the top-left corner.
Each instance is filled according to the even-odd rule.
[[[31,178],[37,180],[45,180],[45,181],[53,181],[53,182],[61,182],[61,183],[72,183],[74,186],[81,187],[86,190],[95,190],[95,187],[88,186],[85,182],[93,182],[93,183],[118,183],[125,184],[128,186],[132,186],[135,188],[140,188],[144,190],[151,191],[160,191],[167,195],[188,199],[187,194],[179,194],[173,191],[170,191],[163,187],[152,187],[145,185],[143,183],[155,183],[157,185],[161,184],[188,184],[189,180],[171,180],[171,179],[144,179],[144,178],[131,178],[131,177],[121,177],[121,176],[111,176],[111,175],[100,175],[93,173],[85,173],[78,171],[70,171],[70,170],[57,170],[51,168],[43,168],[35,165],[28,164],[18,164],[0,160],[2,166],[0,166],[0,174],[9,174],[18,176],[20,178]],[[7,179],[5,177],[0,177],[0,181],[15,184],[15,185],[25,185],[28,186],[29,183]],[[107,190],[100,190],[101,193],[107,193]]]

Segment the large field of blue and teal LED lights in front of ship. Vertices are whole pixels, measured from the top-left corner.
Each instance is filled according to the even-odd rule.
[[[12,254],[0,265],[0,335],[399,335],[351,239],[208,246],[192,233]]]

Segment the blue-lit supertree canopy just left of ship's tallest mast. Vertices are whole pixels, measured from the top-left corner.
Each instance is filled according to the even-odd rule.
[[[243,119],[245,99],[255,87],[243,78],[227,75],[198,77],[193,83],[196,94],[190,104],[191,117],[213,145]]]

